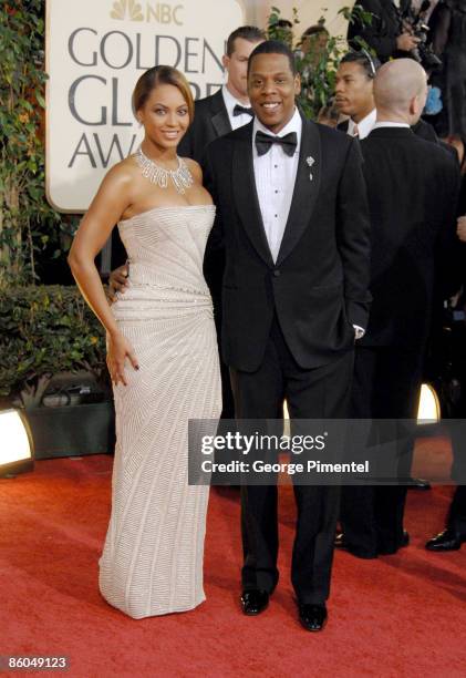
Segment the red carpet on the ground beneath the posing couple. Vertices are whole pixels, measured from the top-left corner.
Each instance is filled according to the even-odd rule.
[[[139,622],[111,608],[97,590],[111,464],[108,456],[42,461],[34,473],[0,481],[0,655],[66,655],[66,675],[80,678],[466,675],[466,545],[444,555],[423,548],[443,527],[449,487],[410,492],[412,545],[400,555],[336,554],[329,625],[309,634],[289,583],[289,487],[281,487],[281,581],[262,616],[244,617],[237,602],[239,506],[230,490],[210,494],[206,603]]]

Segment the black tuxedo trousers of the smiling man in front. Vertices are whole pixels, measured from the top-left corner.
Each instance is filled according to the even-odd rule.
[[[241,419],[348,417],[354,351],[315,369],[302,369],[273,319],[265,358],[255,372],[231,370],[235,409]],[[323,603],[330,593],[340,487],[293,484],[297,526],[291,582],[301,603]],[[279,572],[277,484],[241,486],[242,586],[275,589]]]

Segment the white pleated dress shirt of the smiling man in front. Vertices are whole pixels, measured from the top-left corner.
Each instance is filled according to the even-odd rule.
[[[290,157],[284,153],[282,146],[272,144],[265,155],[259,156],[255,144],[256,132],[259,130],[270,136],[286,136],[290,132],[296,132],[298,144],[294,154]],[[293,197],[301,132],[302,120],[297,109],[294,109],[290,122],[278,134],[270,132],[257,117],[253,122],[252,157],[256,188],[263,228],[273,261],[277,261]]]

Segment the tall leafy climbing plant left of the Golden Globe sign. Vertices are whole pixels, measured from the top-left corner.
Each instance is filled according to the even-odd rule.
[[[42,14],[41,0],[0,6],[0,289],[37,281],[38,254],[59,256],[74,227],[45,199]]]

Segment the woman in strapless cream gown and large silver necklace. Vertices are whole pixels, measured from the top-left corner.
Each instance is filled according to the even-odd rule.
[[[134,618],[193,609],[205,599],[207,486],[188,485],[188,420],[221,410],[213,306],[203,277],[215,206],[194,161],[176,147],[193,115],[185,78],[142,75],[133,95],[145,127],[138,152],[113,167],[76,234],[73,275],[107,332],[116,449],[100,588]],[[94,258],[113,224],[130,259],[108,306]]]

